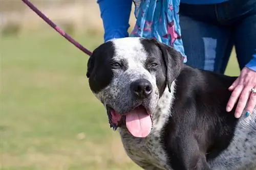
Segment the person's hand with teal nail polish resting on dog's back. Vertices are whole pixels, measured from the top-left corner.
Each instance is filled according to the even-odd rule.
[[[239,118],[242,115],[247,102],[248,106],[245,115],[249,116],[256,105],[256,92],[252,92],[252,89],[256,90],[256,71],[244,67],[237,80],[228,88],[232,93],[227,103],[226,111],[230,112],[239,100],[234,116]]]

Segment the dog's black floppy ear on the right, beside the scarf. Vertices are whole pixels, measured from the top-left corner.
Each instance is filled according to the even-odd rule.
[[[173,81],[179,76],[183,67],[183,56],[173,47],[161,43],[155,39],[151,39],[162,53],[162,58],[166,66],[166,80],[169,92]]]

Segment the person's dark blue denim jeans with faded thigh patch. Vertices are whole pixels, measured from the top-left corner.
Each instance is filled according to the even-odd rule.
[[[255,54],[256,0],[216,5],[181,3],[180,26],[187,65],[224,74],[235,46],[242,69]]]

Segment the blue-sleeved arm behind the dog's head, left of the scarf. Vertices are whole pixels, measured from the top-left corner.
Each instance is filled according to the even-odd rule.
[[[104,27],[104,41],[128,37],[132,0],[97,0]]]

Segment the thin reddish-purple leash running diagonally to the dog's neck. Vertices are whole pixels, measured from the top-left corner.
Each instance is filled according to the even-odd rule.
[[[30,9],[32,9],[38,16],[40,16],[44,21],[46,21],[54,30],[56,30],[60,35],[65,37],[69,42],[78,47],[82,52],[91,56],[92,52],[84,48],[80,43],[74,40],[71,36],[69,36],[65,31],[61,30],[58,26],[55,25],[47,16],[45,16],[41,11],[39,11],[29,0],[22,0]]]

